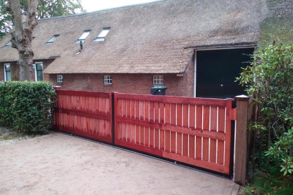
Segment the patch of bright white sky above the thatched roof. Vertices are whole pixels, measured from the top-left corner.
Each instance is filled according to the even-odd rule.
[[[86,12],[93,12],[102,9],[146,3],[151,1],[155,0],[81,0]]]

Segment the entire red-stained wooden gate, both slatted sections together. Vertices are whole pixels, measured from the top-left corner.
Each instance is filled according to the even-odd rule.
[[[230,174],[233,99],[56,92],[62,131]]]

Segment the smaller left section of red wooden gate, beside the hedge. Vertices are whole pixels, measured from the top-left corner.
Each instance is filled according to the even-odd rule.
[[[112,142],[111,93],[56,90],[57,129],[84,137]]]

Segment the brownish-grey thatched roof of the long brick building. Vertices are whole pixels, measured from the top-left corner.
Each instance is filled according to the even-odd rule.
[[[164,0],[38,20],[34,59],[59,57],[47,74],[182,73],[192,46],[257,41],[263,11],[263,0]],[[93,42],[103,27],[111,27],[105,41]],[[80,46],[74,42],[88,29],[84,50],[75,54]],[[0,49],[0,61],[16,60],[15,49]]]

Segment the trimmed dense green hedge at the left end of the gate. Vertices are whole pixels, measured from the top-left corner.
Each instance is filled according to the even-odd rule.
[[[55,91],[48,82],[0,82],[0,123],[27,133],[44,133],[53,124]]]

